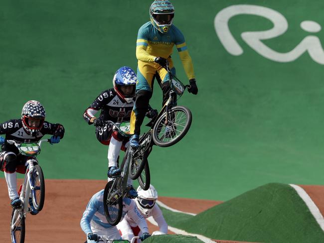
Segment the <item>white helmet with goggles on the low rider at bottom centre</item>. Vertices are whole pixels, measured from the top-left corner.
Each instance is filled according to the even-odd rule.
[[[144,214],[146,217],[149,217],[151,211],[155,205],[155,202],[158,199],[158,192],[154,186],[150,185],[150,188],[147,191],[144,191],[141,186],[137,188],[138,197],[136,198],[137,208]]]

